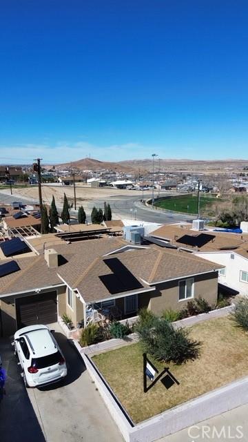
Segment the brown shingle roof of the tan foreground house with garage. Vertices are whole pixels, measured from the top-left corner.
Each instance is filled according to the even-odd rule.
[[[53,244],[53,248],[64,258],[61,265],[56,268],[48,267],[43,254],[35,258],[17,258],[15,261],[20,270],[0,278],[0,294],[31,291],[66,282],[72,289],[79,290],[85,302],[93,302],[118,296],[116,291],[113,294],[108,284],[105,284],[105,280],[113,279],[111,277],[113,273],[117,287],[119,281],[123,282],[121,274],[123,271],[124,276],[130,275],[131,280],[135,278],[134,286],[127,291],[121,289],[121,296],[125,296],[132,292],[147,291],[150,285],[156,285],[157,282],[185,278],[222,268],[221,265],[202,260],[187,252],[165,251],[155,245],[147,249],[134,247],[132,251],[107,255],[127,244],[129,243],[122,238]],[[121,273],[112,271],[112,265],[116,260],[121,266]],[[129,276],[127,282],[128,279]],[[124,288],[125,286],[124,281]]]

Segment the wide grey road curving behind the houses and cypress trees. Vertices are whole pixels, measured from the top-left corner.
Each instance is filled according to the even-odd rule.
[[[110,204],[113,218],[120,218],[121,220],[132,219],[145,222],[157,222],[159,224],[169,224],[172,222],[193,220],[195,218],[187,214],[183,215],[181,213],[176,213],[172,211],[162,212],[157,211],[156,209],[149,209],[141,203],[142,192],[137,191],[137,194],[137,196],[113,195],[108,198],[108,200],[106,200],[106,198],[99,198],[97,200],[89,200],[83,202],[83,207],[87,214],[87,220],[90,222],[90,214],[92,212],[93,206],[96,206],[97,208],[101,207],[101,209],[104,209],[105,202]],[[152,193],[146,195],[145,198],[152,198]],[[24,196],[20,197],[20,195],[8,195],[7,192],[0,193],[0,202],[7,204],[14,201],[21,201],[23,202],[23,204],[34,204],[34,202],[38,203],[37,200],[32,200],[32,198],[25,198]],[[57,208],[62,209],[62,207],[58,205]],[[71,209],[72,215],[76,215],[76,213],[76,211]]]

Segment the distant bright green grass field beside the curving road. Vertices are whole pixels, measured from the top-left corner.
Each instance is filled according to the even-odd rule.
[[[214,196],[200,195],[201,210],[214,202],[220,202],[220,200],[217,200]],[[176,212],[198,213],[198,198],[192,195],[183,195],[181,198],[166,198],[165,200],[155,201],[154,206]]]

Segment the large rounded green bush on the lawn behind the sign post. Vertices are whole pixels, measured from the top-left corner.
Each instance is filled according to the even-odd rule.
[[[189,338],[187,329],[174,329],[165,319],[156,319],[154,327],[144,327],[139,332],[145,352],[159,361],[182,364],[196,359],[200,354],[200,343]]]

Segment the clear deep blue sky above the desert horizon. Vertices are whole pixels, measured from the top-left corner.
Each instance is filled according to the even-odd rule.
[[[248,158],[247,0],[2,0],[0,163]]]

